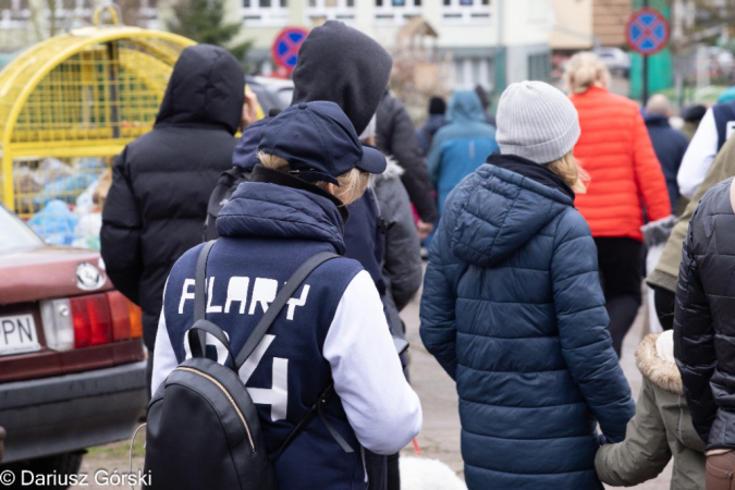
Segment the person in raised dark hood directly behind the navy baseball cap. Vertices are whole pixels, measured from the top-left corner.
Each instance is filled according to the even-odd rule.
[[[369,125],[380,103],[393,60],[377,41],[339,21],[328,21],[311,29],[298,50],[293,73],[292,106],[313,101],[331,101],[342,108],[357,134]],[[257,121],[243,131],[232,161],[246,172],[257,163],[257,149],[262,131],[271,118]],[[415,138],[415,136],[414,136]],[[358,260],[369,272],[381,297],[385,281],[381,273],[384,233],[380,230],[379,209],[371,193],[346,207],[344,256]],[[388,317],[388,310],[384,308]],[[390,320],[390,318],[389,318]],[[397,457],[391,460],[397,473]],[[389,464],[385,456],[366,452],[369,490],[387,488]],[[394,487],[400,488],[400,483]]]

